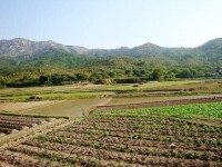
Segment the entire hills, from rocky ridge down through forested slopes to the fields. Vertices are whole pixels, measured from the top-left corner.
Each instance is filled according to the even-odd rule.
[[[0,85],[18,80],[22,82],[23,78],[38,82],[40,77],[56,73],[68,75],[73,80],[91,81],[112,78],[170,80],[220,77],[222,39],[211,40],[196,48],[163,48],[145,43],[131,49],[88,49],[21,38],[0,40]],[[78,75],[81,77],[78,78]]]

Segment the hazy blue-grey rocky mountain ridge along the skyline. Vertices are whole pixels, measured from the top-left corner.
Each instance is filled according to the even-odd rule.
[[[144,43],[139,47],[121,47],[117,49],[88,49],[78,46],[64,46],[54,41],[31,41],[23,38],[12,40],[0,40],[0,57],[32,57],[44,55],[50,51],[63,51],[73,55],[90,55],[97,57],[131,56],[131,57],[181,57],[199,55],[209,57],[210,55],[222,55],[222,38],[210,40],[195,48],[164,48],[153,43]]]

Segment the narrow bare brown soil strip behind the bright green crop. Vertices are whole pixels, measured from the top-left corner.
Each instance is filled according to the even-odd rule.
[[[97,106],[95,108],[93,108],[92,111],[148,108],[148,107],[167,107],[167,106],[179,106],[179,105],[191,105],[191,104],[208,104],[208,102],[221,102],[221,101],[222,101],[222,97],[181,99],[181,100],[165,100],[165,101],[123,104],[123,105],[107,105],[107,106]]]

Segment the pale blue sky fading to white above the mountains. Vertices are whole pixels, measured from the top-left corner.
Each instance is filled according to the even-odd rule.
[[[0,39],[111,49],[221,37],[222,0],[0,0]]]

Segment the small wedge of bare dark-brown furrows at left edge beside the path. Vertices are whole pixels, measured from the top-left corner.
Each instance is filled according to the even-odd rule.
[[[37,125],[50,121],[49,118],[30,118],[19,116],[0,115],[0,136],[10,135],[14,131],[32,128]]]

